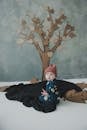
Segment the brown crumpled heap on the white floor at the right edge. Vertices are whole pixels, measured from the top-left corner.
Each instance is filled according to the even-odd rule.
[[[72,102],[85,103],[87,100],[87,91],[76,92],[75,90],[70,90],[66,93],[65,99]]]

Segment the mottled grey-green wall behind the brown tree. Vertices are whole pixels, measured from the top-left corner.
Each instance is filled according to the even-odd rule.
[[[18,45],[17,39],[26,12],[44,18],[47,5],[58,13],[64,11],[77,34],[51,60],[57,64],[59,78],[87,77],[87,0],[0,0],[0,81],[40,79],[37,51],[29,44]]]

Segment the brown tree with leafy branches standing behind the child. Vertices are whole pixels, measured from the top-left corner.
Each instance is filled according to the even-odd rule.
[[[76,36],[74,26],[66,22],[67,17],[64,14],[61,14],[58,18],[54,18],[54,9],[49,6],[47,7],[47,12],[48,17],[46,17],[46,21],[49,24],[47,29],[44,27],[44,20],[41,20],[39,17],[34,16],[31,18],[33,24],[31,28],[25,19],[22,20],[21,39],[19,41],[20,43],[29,41],[29,43],[32,43],[36,47],[42,61],[42,80],[44,80],[44,69],[50,64],[50,59],[57,48],[61,46],[67,37],[73,38]],[[64,27],[60,31],[62,25]]]

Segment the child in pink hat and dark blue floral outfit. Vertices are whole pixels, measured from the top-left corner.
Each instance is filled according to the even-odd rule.
[[[42,90],[41,94],[39,96],[39,100],[41,102],[57,102],[58,92],[56,92],[56,86],[54,84],[54,79],[56,78],[56,66],[50,65],[45,70],[45,79],[47,81],[46,83],[46,90]]]

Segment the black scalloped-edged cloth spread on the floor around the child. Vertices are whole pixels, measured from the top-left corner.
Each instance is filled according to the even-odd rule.
[[[42,104],[39,102],[38,97],[41,95],[42,89],[45,89],[47,81],[38,82],[35,84],[18,84],[13,85],[7,88],[6,97],[9,100],[17,100],[22,102],[25,106],[34,107],[36,110],[43,111],[43,112],[51,112],[56,109],[56,104],[59,103],[59,100],[56,104]],[[64,97],[68,90],[76,90],[82,91],[80,87],[76,84],[67,82],[64,80],[54,80],[54,83],[57,87],[57,91],[59,92],[59,97]]]

